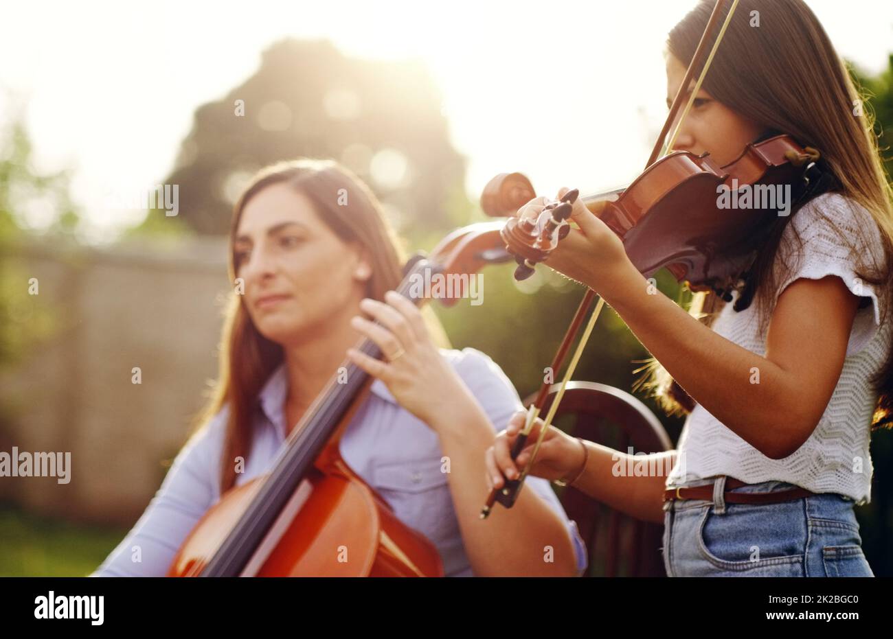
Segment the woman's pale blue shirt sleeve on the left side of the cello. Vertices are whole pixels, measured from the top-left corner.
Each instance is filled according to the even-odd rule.
[[[90,577],[163,577],[220,494],[217,469],[228,407],[189,438],[137,523]]]

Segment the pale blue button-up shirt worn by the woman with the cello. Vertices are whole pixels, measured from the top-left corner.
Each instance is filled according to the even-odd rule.
[[[486,354],[472,348],[440,352],[471,389],[492,425],[504,428],[522,403],[503,370]],[[287,436],[283,410],[287,392],[288,371],[282,364],[259,394],[253,448],[245,461],[244,473],[236,476],[236,485],[270,472]],[[220,499],[218,477],[228,411],[229,406],[224,406],[189,439],[142,517],[93,576],[166,574],[188,533]],[[437,547],[448,577],[473,575],[455,517],[448,476],[441,469],[443,455],[438,436],[397,404],[380,379],[372,383],[368,399],[346,427],[340,452],[363,481],[388,502],[398,519]],[[525,490],[538,494],[562,517],[572,537],[577,568],[585,569],[586,547],[552,486],[540,477],[528,477],[525,484]],[[518,525],[523,526],[523,522]],[[512,540],[506,539],[505,543],[511,544]],[[538,558],[542,556],[534,555],[531,560],[541,560]]]

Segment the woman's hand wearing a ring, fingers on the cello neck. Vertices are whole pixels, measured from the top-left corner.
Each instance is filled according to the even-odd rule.
[[[446,402],[461,395],[463,381],[431,341],[415,304],[395,291],[388,291],[385,300],[366,298],[360,303],[380,324],[359,315],[351,319],[351,326],[378,345],[384,359],[375,360],[354,348],[347,349],[347,356],[384,382],[407,411],[431,425],[447,410]]]

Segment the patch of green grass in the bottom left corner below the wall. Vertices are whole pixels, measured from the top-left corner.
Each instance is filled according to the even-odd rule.
[[[0,577],[84,577],[127,529],[47,519],[0,504]]]

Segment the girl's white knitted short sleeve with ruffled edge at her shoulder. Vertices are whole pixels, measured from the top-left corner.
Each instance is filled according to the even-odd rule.
[[[884,260],[880,228],[871,214],[850,198],[823,194],[806,203],[790,220],[781,238],[778,295],[799,278],[838,276],[867,305],[856,311],[847,357],[858,353],[880,328],[878,289],[856,273],[869,273]],[[784,273],[784,270],[790,270]],[[862,304],[860,304],[862,306]]]

